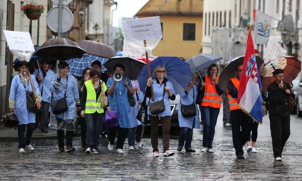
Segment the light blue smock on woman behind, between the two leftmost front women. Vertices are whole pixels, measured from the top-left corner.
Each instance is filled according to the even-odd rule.
[[[39,81],[39,88],[42,94],[42,101],[51,103],[50,86],[54,73],[48,70],[46,71],[46,76],[44,77],[42,73],[42,69],[36,69],[32,74],[35,75],[35,77],[40,77],[40,76],[43,77],[43,79]]]

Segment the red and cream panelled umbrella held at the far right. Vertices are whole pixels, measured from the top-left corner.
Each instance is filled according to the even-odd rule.
[[[259,71],[262,83],[262,92],[266,92],[268,85],[275,81],[273,72],[274,69],[278,68],[284,70],[283,81],[291,82],[301,71],[301,62],[293,56],[276,56],[263,63]]]

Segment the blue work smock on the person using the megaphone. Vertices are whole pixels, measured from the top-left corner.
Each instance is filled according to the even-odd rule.
[[[112,92],[112,94],[108,95],[108,101],[110,109],[116,110],[116,112],[120,114],[119,126],[121,128],[134,128],[140,124],[136,119],[132,119],[131,117],[131,108],[127,96],[128,89],[124,85],[125,80],[126,78],[123,77],[121,81],[116,82],[114,86],[114,91]],[[131,80],[127,78],[127,81],[129,83],[129,86],[133,89]],[[111,87],[112,84],[113,78],[109,78],[107,81],[107,90]]]

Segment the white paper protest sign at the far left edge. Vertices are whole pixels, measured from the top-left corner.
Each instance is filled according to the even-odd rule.
[[[35,52],[29,32],[3,30],[10,50]]]

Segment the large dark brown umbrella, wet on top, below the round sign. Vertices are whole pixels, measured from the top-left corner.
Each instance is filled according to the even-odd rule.
[[[49,39],[43,43],[36,56],[44,60],[68,60],[72,58],[80,58],[86,53],[76,42],[68,38]]]

